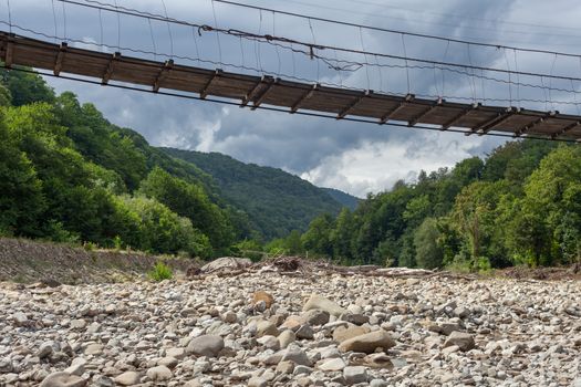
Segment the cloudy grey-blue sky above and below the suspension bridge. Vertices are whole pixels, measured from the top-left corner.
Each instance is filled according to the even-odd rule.
[[[92,2],[92,0],[79,0]],[[238,1],[238,0],[236,0]],[[299,41],[393,55],[473,63],[480,66],[581,76],[579,57],[543,55],[510,50],[425,40],[357,28],[341,27],[271,12],[259,12],[211,0],[102,0],[197,23],[255,33],[283,35]],[[440,0],[245,0],[248,4],[344,20],[402,31],[436,34],[504,45],[573,52],[579,50],[581,3],[549,1]],[[93,2],[94,3],[94,2]],[[0,0],[1,20],[48,35],[66,38],[72,44],[159,61],[250,74],[284,74],[357,88],[390,93],[465,97],[492,105],[516,105],[578,113],[575,93],[542,87],[508,86],[506,74],[485,73],[498,81],[455,74],[439,69],[401,69],[403,62],[375,55],[352,55],[325,50],[331,60],[375,65],[356,71],[335,71],[326,64],[283,48],[131,15],[83,8],[59,0]],[[4,28],[7,28],[4,25]],[[14,28],[14,32],[33,35]],[[73,41],[77,41],[74,43]],[[79,43],[79,41],[85,42]],[[142,52],[129,52],[127,49]],[[157,55],[143,52],[156,52]],[[203,61],[199,61],[203,60]],[[216,62],[221,62],[218,65]],[[228,65],[227,65],[228,64]],[[239,67],[245,67],[240,70]],[[353,69],[351,69],[353,70]],[[470,74],[469,70],[466,70]],[[409,79],[409,84],[407,82]],[[142,133],[151,144],[203,151],[220,151],[247,163],[279,167],[315,185],[334,187],[363,197],[388,189],[397,179],[413,180],[421,169],[453,166],[484,156],[504,140],[461,134],[424,132],[295,116],[251,112],[236,106],[151,95],[113,87],[48,79],[58,91],[71,90],[81,102],[92,102],[113,123]],[[570,81],[520,76],[512,82],[580,90]],[[561,82],[561,84],[559,84]],[[530,101],[518,101],[530,100]],[[568,102],[559,104],[554,101]],[[581,100],[580,100],[581,101]]]

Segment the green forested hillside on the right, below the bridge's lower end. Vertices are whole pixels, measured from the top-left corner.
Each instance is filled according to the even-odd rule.
[[[581,147],[510,142],[421,172],[271,248],[344,263],[487,270],[581,260]]]

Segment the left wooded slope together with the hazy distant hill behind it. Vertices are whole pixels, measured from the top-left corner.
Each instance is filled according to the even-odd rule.
[[[208,258],[342,207],[280,169],[152,147],[37,75],[0,75],[0,234]]]

